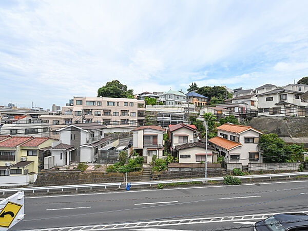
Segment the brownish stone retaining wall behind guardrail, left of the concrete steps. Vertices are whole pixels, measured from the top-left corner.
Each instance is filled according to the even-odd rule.
[[[128,181],[140,181],[141,172],[128,172]],[[107,182],[123,182],[124,173],[99,171],[41,171],[37,174],[35,186],[99,184]]]

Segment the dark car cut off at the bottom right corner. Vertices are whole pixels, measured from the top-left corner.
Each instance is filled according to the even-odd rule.
[[[301,212],[276,214],[256,222],[255,231],[302,231],[308,230],[308,215]]]

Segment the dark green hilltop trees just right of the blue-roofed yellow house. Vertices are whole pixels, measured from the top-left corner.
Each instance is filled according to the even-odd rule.
[[[197,93],[209,98],[210,104],[222,103],[227,98],[232,98],[232,94],[228,93],[222,86],[203,86],[200,87]]]

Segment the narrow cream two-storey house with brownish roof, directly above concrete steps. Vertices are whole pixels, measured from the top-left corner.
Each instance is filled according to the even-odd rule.
[[[160,126],[142,126],[132,130],[132,148],[144,157],[149,164],[152,156],[162,158],[164,153],[163,134],[165,130]]]

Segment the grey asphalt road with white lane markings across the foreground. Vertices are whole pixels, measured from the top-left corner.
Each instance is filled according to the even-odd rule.
[[[260,220],[247,215],[290,211],[308,211],[308,181],[26,197],[26,216],[11,230],[99,224],[113,230],[210,230]],[[129,224],[114,225],[120,223]]]

